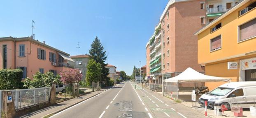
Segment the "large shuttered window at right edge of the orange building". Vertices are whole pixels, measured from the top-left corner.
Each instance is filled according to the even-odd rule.
[[[238,27],[238,41],[246,40],[256,36],[256,18]]]

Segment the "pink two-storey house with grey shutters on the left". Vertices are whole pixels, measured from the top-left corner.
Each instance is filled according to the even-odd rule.
[[[29,37],[0,38],[0,68],[23,70],[23,78],[31,78],[36,72],[58,74],[72,68],[70,54]]]

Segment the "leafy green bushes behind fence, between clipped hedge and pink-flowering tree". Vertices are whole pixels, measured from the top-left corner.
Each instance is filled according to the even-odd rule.
[[[25,88],[40,88],[40,87],[51,87],[53,83],[61,84],[60,81],[61,76],[56,75],[52,72],[47,72],[42,74],[40,72],[35,73],[33,75],[33,80],[30,78],[26,78],[24,81],[23,87]]]

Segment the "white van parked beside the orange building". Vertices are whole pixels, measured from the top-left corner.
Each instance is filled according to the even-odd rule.
[[[256,82],[228,82],[207,94],[203,94],[198,103],[210,107],[225,105],[228,109],[232,106],[249,108],[256,100]]]

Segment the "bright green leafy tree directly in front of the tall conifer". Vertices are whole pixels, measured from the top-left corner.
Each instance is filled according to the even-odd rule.
[[[87,65],[86,85],[91,85],[92,81],[100,81],[101,74],[102,73],[100,63],[96,63],[95,60],[90,59]]]

